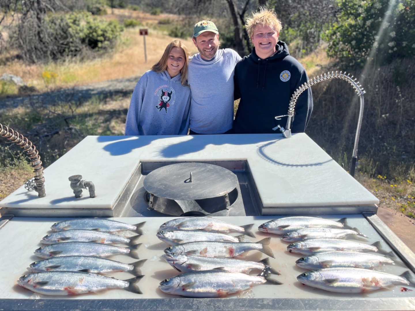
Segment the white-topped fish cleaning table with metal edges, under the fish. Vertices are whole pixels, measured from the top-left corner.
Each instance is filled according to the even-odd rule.
[[[408,287],[412,291],[400,291],[396,286],[366,295],[345,295],[303,286],[296,280],[304,271],[295,267],[300,255],[288,253],[288,244],[278,236],[271,238],[276,256],[271,265],[280,270],[281,276],[276,279],[283,285],[261,285],[229,299],[188,299],[160,292],[159,282],[176,272],[160,258],[167,245],[155,233],[163,222],[175,216],[166,214],[168,205],[164,203],[169,198],[158,198],[166,213],[155,208],[159,205],[144,187],[144,180],[166,165],[180,163],[190,163],[192,167],[190,174],[183,174],[187,181],[205,182],[207,188],[216,182],[210,177],[200,178],[199,165],[195,163],[217,165],[236,175],[236,190],[224,195],[226,207],[210,215],[237,225],[253,223],[256,238],[252,241],[267,236],[256,230],[260,224],[281,215],[334,220],[347,217],[350,225],[369,237],[365,243],[381,241],[385,250],[393,250],[398,256],[399,265],[382,267],[381,271],[398,275],[405,270],[415,271],[415,254],[376,216],[378,199],[304,133],[293,134],[291,139],[281,134],[88,136],[45,170],[45,197],[22,186],[0,202],[0,258],[11,262],[0,269],[0,310],[415,309],[412,287]],[[88,191],[83,190],[83,197],[75,198],[68,180],[73,175],[92,182],[96,197],[89,197]],[[178,183],[186,183],[180,178]],[[183,211],[184,206],[189,206],[181,198],[173,199]],[[192,204],[204,207],[203,199],[195,198]],[[11,216],[7,215],[14,217],[9,220]],[[143,295],[111,289],[100,294],[46,297],[33,295],[16,284],[27,273],[26,267],[38,260],[33,252],[51,224],[68,217],[111,217],[129,224],[145,217],[140,259],[147,261],[142,267],[145,277],[139,284]],[[248,254],[252,260],[265,258],[262,253]],[[112,259],[132,260],[125,256]]]

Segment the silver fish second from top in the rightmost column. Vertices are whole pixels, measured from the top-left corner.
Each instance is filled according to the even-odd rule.
[[[367,238],[363,233],[360,233],[357,229],[333,229],[333,228],[306,228],[306,229],[299,229],[296,231],[291,231],[285,233],[281,239],[286,242],[297,242],[297,241],[304,241],[308,239],[316,239],[316,238],[335,238],[335,239],[342,239],[347,238],[349,236],[363,236]]]

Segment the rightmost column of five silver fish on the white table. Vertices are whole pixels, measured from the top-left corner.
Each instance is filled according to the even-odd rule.
[[[287,250],[306,255],[296,260],[295,264],[310,270],[297,277],[298,281],[308,286],[339,293],[366,293],[395,284],[415,286],[409,271],[397,276],[369,270],[382,265],[395,265],[396,257],[393,252],[383,251],[380,242],[367,245],[342,240],[348,236],[364,236],[356,228],[350,229],[346,219],[331,221],[318,217],[284,217],[262,224],[259,230],[282,235],[282,240],[295,242],[288,245]],[[364,253],[367,251],[385,256]]]

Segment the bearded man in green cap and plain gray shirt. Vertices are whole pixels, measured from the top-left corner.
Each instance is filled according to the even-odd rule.
[[[219,32],[208,20],[195,24],[193,43],[199,53],[188,65],[190,134],[228,134],[234,116],[234,68],[241,57],[219,49]]]

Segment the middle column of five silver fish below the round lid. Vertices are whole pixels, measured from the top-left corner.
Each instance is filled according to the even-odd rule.
[[[162,256],[173,268],[185,272],[165,279],[159,285],[168,294],[187,297],[224,297],[241,293],[259,284],[281,284],[270,277],[279,272],[269,259],[259,262],[240,260],[250,250],[259,250],[275,258],[269,243],[246,242],[245,235],[255,237],[252,225],[236,226],[210,217],[180,218],[160,226],[157,237],[171,245]],[[242,233],[234,237],[226,233]],[[250,275],[251,271],[259,275]]]

